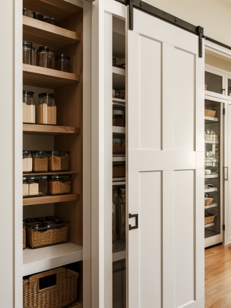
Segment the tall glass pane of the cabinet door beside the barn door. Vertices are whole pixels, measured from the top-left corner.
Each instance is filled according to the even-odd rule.
[[[221,234],[221,103],[205,100],[205,109],[216,111],[205,117],[205,238]]]

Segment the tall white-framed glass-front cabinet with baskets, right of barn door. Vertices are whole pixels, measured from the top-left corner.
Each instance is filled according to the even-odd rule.
[[[205,95],[205,247],[223,240],[223,109]]]

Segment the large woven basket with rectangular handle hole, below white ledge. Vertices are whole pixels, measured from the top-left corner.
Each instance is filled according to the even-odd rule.
[[[55,276],[49,280],[51,275]],[[59,267],[23,279],[23,308],[61,308],[74,302],[78,277],[79,273]],[[44,281],[55,285],[44,288]]]

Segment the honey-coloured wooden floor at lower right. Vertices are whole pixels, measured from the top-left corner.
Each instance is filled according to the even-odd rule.
[[[231,245],[205,250],[205,308],[231,308]]]

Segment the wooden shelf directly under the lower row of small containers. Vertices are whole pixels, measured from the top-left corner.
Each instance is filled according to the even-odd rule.
[[[67,194],[67,195],[58,195],[58,196],[47,195],[43,197],[23,198],[23,205],[77,201],[77,200],[79,200],[79,194]]]

